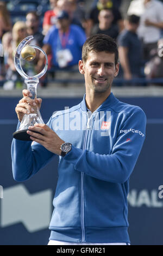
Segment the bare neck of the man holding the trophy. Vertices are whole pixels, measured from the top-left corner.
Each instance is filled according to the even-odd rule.
[[[87,108],[93,113],[110,95],[111,89],[104,93],[86,92],[85,101]]]

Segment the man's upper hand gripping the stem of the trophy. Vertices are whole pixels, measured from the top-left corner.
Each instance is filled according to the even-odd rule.
[[[30,92],[26,89],[23,90],[23,98],[18,102],[15,111],[18,117],[18,120],[22,121],[24,114],[30,114],[34,112],[33,107],[37,105],[40,109],[42,99],[34,99],[30,98]]]

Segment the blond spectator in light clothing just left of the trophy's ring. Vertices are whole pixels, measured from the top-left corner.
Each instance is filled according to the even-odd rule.
[[[9,68],[7,70],[7,74],[5,76],[5,79],[7,82],[4,83],[4,89],[12,89],[14,87],[21,88],[22,83],[19,80],[21,77],[17,73],[14,65],[14,52],[20,44],[20,42],[26,38],[27,36],[27,29],[26,29],[26,23],[23,21],[17,21],[13,28],[12,28],[12,41],[8,48],[9,56],[8,56],[8,65]]]

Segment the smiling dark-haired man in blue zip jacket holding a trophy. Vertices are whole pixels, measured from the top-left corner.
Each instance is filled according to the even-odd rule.
[[[145,141],[146,115],[111,93],[118,70],[115,41],[103,34],[91,36],[79,60],[85,77],[83,101],[53,114],[47,125],[32,121],[19,130],[18,122],[16,134],[27,133],[29,141],[21,136],[12,141],[15,180],[27,180],[54,156],[60,158],[49,245],[130,243],[129,176]],[[23,90],[16,106],[21,122],[41,106],[31,95],[30,88]]]

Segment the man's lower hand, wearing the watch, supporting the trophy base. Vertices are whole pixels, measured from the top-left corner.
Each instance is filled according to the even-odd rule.
[[[28,129],[30,131],[28,130],[27,133],[32,141],[41,144],[54,154],[61,154],[60,146],[64,141],[46,124],[35,124],[35,126],[29,126]],[[41,134],[33,131],[40,132]]]

